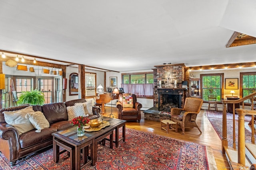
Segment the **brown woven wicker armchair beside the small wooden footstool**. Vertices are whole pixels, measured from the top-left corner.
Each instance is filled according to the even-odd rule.
[[[196,117],[201,110],[202,104],[203,100],[200,98],[186,98],[183,109],[171,109],[172,121],[181,127],[182,135],[184,135],[185,128],[187,127],[197,127],[200,133],[202,133],[196,124]]]

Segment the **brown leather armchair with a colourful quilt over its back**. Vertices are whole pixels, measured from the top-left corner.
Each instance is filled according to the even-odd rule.
[[[135,94],[132,94],[133,107],[123,107],[123,94],[119,94],[116,107],[118,108],[118,119],[122,120],[138,120],[140,122],[141,114],[140,108],[142,104],[137,102]]]

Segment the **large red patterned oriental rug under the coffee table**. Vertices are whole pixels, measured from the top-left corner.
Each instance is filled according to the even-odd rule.
[[[52,148],[30,154],[12,168],[0,152],[0,168],[4,170],[64,170],[70,169],[66,152],[56,164],[52,161]],[[98,145],[95,166],[84,170],[216,170],[212,149],[196,143],[145,133],[126,128],[126,142],[118,148]]]

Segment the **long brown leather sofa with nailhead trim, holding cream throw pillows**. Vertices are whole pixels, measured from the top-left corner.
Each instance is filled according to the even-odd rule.
[[[28,131],[19,135],[16,128],[8,125],[4,119],[3,111],[20,110],[26,106],[15,106],[0,110],[0,151],[10,161],[11,166],[16,164],[19,158],[22,158],[32,152],[44,149],[52,145],[52,133],[71,127],[68,121],[68,113],[66,107],[74,106],[75,103],[86,102],[85,99],[70,100],[64,103],[44,104],[43,106],[33,106],[34,111],[41,111],[50,123],[49,128],[36,133],[35,130]],[[98,118],[100,112],[99,107],[92,107],[93,115],[89,115],[90,119]]]

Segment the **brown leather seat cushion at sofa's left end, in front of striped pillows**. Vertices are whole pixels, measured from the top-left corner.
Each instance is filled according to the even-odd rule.
[[[57,130],[54,128],[45,128],[41,130],[41,133],[36,133],[36,131],[28,131],[20,135],[20,147],[26,148],[30,146],[34,146],[37,143],[42,143],[47,140],[52,140],[52,133]]]

